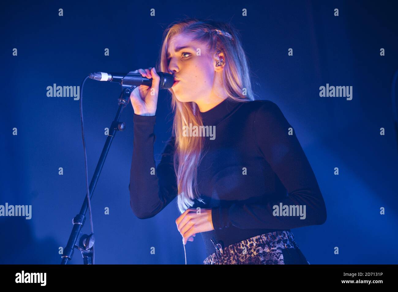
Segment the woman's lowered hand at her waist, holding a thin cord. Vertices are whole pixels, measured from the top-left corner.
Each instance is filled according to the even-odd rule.
[[[183,244],[187,244],[187,240],[193,241],[193,236],[197,232],[214,230],[211,208],[187,209],[177,218],[176,224],[179,233],[182,235]]]

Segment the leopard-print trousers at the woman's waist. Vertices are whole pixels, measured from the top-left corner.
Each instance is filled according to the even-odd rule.
[[[309,265],[298,248],[293,233],[275,231],[261,234],[223,248],[212,240],[216,252],[205,265]]]

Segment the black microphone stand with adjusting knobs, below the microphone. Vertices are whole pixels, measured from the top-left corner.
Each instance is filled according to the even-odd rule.
[[[125,106],[129,104],[131,91],[133,91],[137,87],[136,85],[131,85],[131,84],[129,85],[128,83],[129,82],[125,82],[125,84],[123,84],[122,82],[121,84],[122,92],[118,99],[119,108],[117,109],[115,120],[113,120],[111,127],[109,128],[110,132],[108,134],[108,137],[106,138],[105,145],[103,146],[102,153],[98,161],[96,170],[91,179],[89,187],[90,200],[93,196],[94,189],[96,188],[98,178],[100,177],[101,170],[105,162],[106,156],[108,154],[109,148],[111,147],[113,137],[115,137],[117,131],[125,130],[125,123],[119,122],[119,118],[123,111],[123,108],[125,108]],[[83,234],[83,232],[81,231],[84,225],[84,221],[86,220],[85,215],[87,212],[87,208],[88,208],[88,202],[87,202],[87,193],[86,193],[86,195],[84,196],[84,202],[82,208],[80,209],[80,213],[72,219],[73,228],[69,236],[68,244],[66,244],[66,247],[64,248],[61,265],[66,265],[68,261],[72,259],[74,248],[77,248],[81,251],[83,257],[83,263],[85,265],[92,264],[92,259],[93,259],[92,247],[94,246],[94,241],[95,241],[94,234],[87,235]]]

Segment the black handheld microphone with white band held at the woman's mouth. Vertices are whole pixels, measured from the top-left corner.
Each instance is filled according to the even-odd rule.
[[[173,86],[174,77],[172,74],[164,72],[156,72],[156,73],[158,73],[160,77],[159,89],[169,89]],[[90,73],[89,78],[98,81],[116,82],[122,85],[129,85],[129,86],[152,85],[152,78],[148,79],[146,77],[142,77],[140,73],[96,72],[96,73]]]

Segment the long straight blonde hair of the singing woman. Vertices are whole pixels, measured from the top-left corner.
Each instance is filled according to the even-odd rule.
[[[227,99],[239,102],[254,100],[250,73],[246,54],[243,50],[238,31],[228,23],[213,20],[198,20],[187,18],[170,24],[163,34],[160,50],[161,72],[168,71],[167,49],[170,38],[177,34],[185,34],[194,41],[205,44],[209,52],[223,52],[224,69],[222,84],[228,95]],[[246,95],[244,95],[246,89]],[[187,137],[183,135],[183,126],[203,126],[199,109],[195,102],[180,102],[172,90],[172,109],[174,112],[173,132],[175,136],[174,171],[177,177],[178,200],[177,205],[181,213],[194,205],[194,200],[203,200],[197,191],[197,166],[202,153],[204,138]]]

